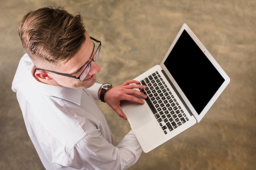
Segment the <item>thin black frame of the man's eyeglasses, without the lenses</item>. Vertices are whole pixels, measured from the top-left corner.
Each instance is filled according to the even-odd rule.
[[[93,57],[92,57],[92,60],[86,65],[86,67],[83,69],[83,71],[81,72],[81,74],[80,74],[78,77],[72,76],[72,75],[68,75],[68,74],[64,74],[64,73],[60,73],[60,72],[55,72],[55,71],[52,71],[52,70],[45,70],[45,69],[42,69],[42,68],[36,68],[36,70],[43,70],[43,71],[47,71],[47,72],[52,72],[52,73],[55,73],[55,74],[59,74],[59,75],[61,75],[61,76],[67,76],[67,77],[70,77],[70,78],[80,79],[80,76],[83,74],[83,72],[86,70],[86,68],[91,64],[91,62],[92,62],[92,61],[95,62],[95,61],[98,59],[99,52],[100,52],[100,50],[101,50],[101,41],[99,41],[99,40],[97,40],[97,39],[95,39],[95,38],[93,38],[93,37],[90,37],[90,39],[92,39],[93,41],[99,43],[99,46],[97,47],[97,50],[95,51],[95,53],[94,53],[94,55],[93,55]],[[99,51],[98,51],[98,50],[99,50]],[[95,54],[97,54],[97,57],[96,57],[96,59],[94,60]],[[86,63],[85,63],[85,64],[86,64]],[[88,73],[87,73],[87,74],[88,74]],[[86,75],[86,76],[87,76],[87,75]],[[86,77],[86,76],[85,76],[85,77]],[[84,78],[83,78],[83,80],[84,80]],[[80,81],[83,81],[83,80],[80,79]]]

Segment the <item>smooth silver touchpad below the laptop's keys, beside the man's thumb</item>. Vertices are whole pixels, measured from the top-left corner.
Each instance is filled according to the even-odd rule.
[[[128,116],[132,126],[138,129],[142,125],[148,123],[151,120],[148,111],[144,105],[135,104],[126,109],[126,116]]]

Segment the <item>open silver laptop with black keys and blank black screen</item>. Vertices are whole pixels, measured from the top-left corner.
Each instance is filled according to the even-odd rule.
[[[230,81],[187,24],[160,65],[135,80],[148,98],[144,105],[123,101],[121,109],[145,153],[200,122]]]

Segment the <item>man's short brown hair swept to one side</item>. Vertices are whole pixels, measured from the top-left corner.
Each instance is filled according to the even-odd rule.
[[[69,61],[85,41],[80,13],[62,7],[45,7],[27,13],[18,26],[25,52],[34,63]]]

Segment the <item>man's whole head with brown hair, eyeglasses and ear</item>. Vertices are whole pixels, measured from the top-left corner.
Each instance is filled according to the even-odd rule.
[[[18,34],[37,68],[38,81],[71,88],[95,83],[100,68],[90,61],[97,59],[101,43],[90,38],[79,13],[72,15],[61,7],[31,11],[22,18]]]

